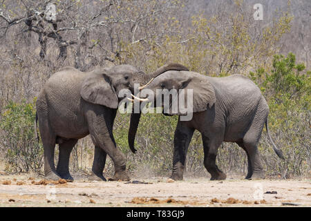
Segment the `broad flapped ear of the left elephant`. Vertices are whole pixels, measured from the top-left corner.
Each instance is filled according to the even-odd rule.
[[[111,84],[111,79],[100,71],[93,71],[84,79],[80,92],[83,99],[93,104],[100,104],[116,109],[117,93]]]

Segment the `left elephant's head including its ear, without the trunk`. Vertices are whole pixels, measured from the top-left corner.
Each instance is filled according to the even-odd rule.
[[[100,104],[109,108],[118,108],[124,97],[122,89],[129,89],[134,93],[134,84],[144,84],[147,77],[142,71],[130,65],[118,65],[111,68],[99,68],[88,73],[82,83],[81,95],[87,102]],[[123,96],[124,93],[122,94]]]

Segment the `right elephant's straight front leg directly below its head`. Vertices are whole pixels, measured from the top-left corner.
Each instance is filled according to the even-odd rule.
[[[173,172],[170,177],[173,180],[183,179],[187,150],[192,135],[194,135],[194,128],[189,128],[178,121],[174,135]]]

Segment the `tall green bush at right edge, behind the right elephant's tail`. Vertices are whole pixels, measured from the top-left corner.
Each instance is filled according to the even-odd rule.
[[[270,107],[270,131],[282,149],[285,160],[276,157],[263,133],[261,155],[270,175],[294,177],[308,175],[311,169],[310,149],[310,71],[296,64],[296,57],[274,55],[271,70],[259,68],[250,73],[264,91]]]

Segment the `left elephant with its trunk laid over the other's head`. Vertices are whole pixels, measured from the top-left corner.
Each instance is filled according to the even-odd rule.
[[[171,64],[165,70],[185,70]],[[113,137],[113,122],[117,114],[121,90],[134,91],[134,84],[146,84],[158,75],[149,75],[130,65],[97,68],[81,72],[66,67],[53,74],[37,98],[36,122],[44,146],[44,174],[48,180],[73,180],[68,164],[77,141],[91,135],[95,146],[92,174],[89,180],[106,180],[103,175],[108,154],[113,161],[113,180],[129,180],[126,160]],[[37,128],[35,129],[37,131]],[[59,144],[59,160],[55,169],[55,144]]]

